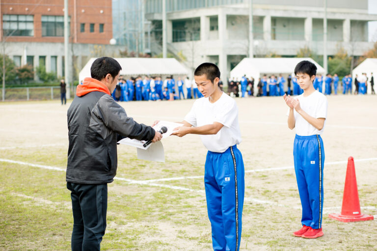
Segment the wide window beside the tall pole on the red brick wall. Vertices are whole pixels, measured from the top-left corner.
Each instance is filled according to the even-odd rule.
[[[68,26],[70,26],[69,23],[68,23]],[[64,36],[64,16],[42,16],[42,36],[43,37]]]

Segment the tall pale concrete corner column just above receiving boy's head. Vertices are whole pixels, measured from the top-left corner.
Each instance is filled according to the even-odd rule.
[[[219,52],[218,52],[218,68],[220,69],[221,79],[223,83],[227,83],[228,67],[227,67],[227,55],[225,50],[226,37],[226,13],[224,9],[219,9],[218,13],[218,39],[219,39]]]

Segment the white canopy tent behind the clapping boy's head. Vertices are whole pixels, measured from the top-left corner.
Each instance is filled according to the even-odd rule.
[[[288,75],[294,75],[296,65],[302,60],[309,60],[317,66],[318,74],[325,74],[324,69],[316,61],[309,57],[269,57],[269,58],[243,58],[241,62],[230,72],[230,79],[240,80],[243,75],[254,78],[254,93],[257,90],[258,78],[263,75],[279,74],[287,80]],[[287,82],[285,83],[287,89]]]

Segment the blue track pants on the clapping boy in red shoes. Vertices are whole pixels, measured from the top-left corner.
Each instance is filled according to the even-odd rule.
[[[296,135],[293,156],[302,206],[301,223],[322,227],[324,150],[320,135]]]

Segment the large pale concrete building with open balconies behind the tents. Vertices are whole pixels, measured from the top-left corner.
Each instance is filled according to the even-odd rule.
[[[166,0],[167,50],[186,58],[189,68],[203,61],[219,65],[223,78],[249,54],[296,56],[300,48],[323,55],[323,1],[252,0],[253,43],[249,43],[250,0]],[[299,5],[297,5],[299,4]],[[161,53],[162,0],[146,0],[153,24],[152,52]],[[327,54],[343,47],[362,55],[368,42],[368,0],[327,0]],[[250,45],[251,44],[251,45]]]

